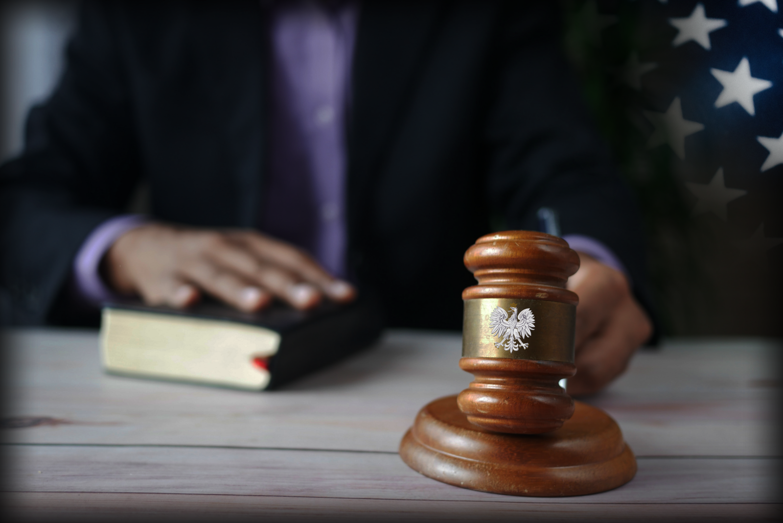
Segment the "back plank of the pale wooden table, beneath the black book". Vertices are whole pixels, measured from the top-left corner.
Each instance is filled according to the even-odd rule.
[[[470,380],[456,366],[456,334],[394,331],[370,352],[263,393],[107,376],[94,331],[4,340],[15,369],[9,415],[54,420],[3,431],[9,442],[395,452],[424,403]],[[670,342],[641,352],[587,401],[619,421],[640,456],[778,456],[779,354],[763,340]]]

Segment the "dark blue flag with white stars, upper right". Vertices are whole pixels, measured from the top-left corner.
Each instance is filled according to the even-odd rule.
[[[640,31],[659,36],[625,73],[652,127],[647,145],[676,154],[695,214],[719,218],[741,251],[763,258],[783,243],[783,5],[640,4]]]

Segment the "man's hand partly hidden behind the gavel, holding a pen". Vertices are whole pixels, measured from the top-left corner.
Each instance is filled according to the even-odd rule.
[[[626,370],[631,356],[652,334],[652,323],[631,294],[626,276],[579,253],[579,271],[568,289],[576,307],[576,376],[568,394],[592,394]]]

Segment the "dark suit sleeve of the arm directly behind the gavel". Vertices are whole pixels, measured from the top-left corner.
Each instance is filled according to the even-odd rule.
[[[485,129],[492,151],[487,191],[510,229],[538,229],[551,207],[561,234],[595,238],[629,272],[655,317],[644,233],[633,193],[619,178],[561,53],[556,2],[511,2],[497,33],[493,103]]]

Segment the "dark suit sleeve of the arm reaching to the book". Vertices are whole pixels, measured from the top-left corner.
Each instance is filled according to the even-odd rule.
[[[0,168],[0,323],[41,324],[58,305],[74,255],[121,214],[139,159],[109,2],[85,3],[52,96],[27,117],[20,157]]]

